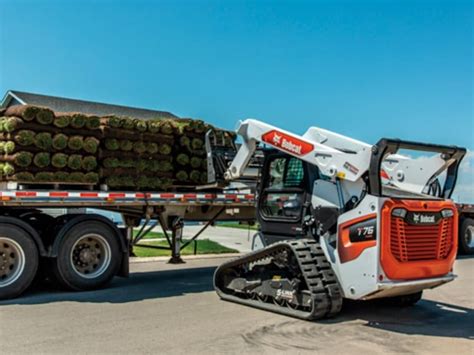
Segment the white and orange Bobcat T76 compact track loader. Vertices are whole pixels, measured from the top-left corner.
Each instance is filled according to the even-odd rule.
[[[414,304],[455,278],[449,198],[464,148],[369,145],[316,127],[298,136],[253,119],[238,133],[227,181],[244,175],[259,143],[271,149],[258,180],[255,251],[216,270],[222,299],[311,320],[337,314],[344,298]]]

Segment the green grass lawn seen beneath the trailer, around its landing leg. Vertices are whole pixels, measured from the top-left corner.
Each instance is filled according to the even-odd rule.
[[[168,246],[166,240],[159,241],[141,241],[142,244]],[[171,256],[171,250],[149,249],[142,247],[134,247],[133,252],[136,256]],[[219,243],[209,239],[199,239],[197,241],[197,254],[222,254],[222,253],[238,253],[238,250],[227,248]],[[194,243],[189,244],[185,249],[181,250],[181,255],[193,255]]]

